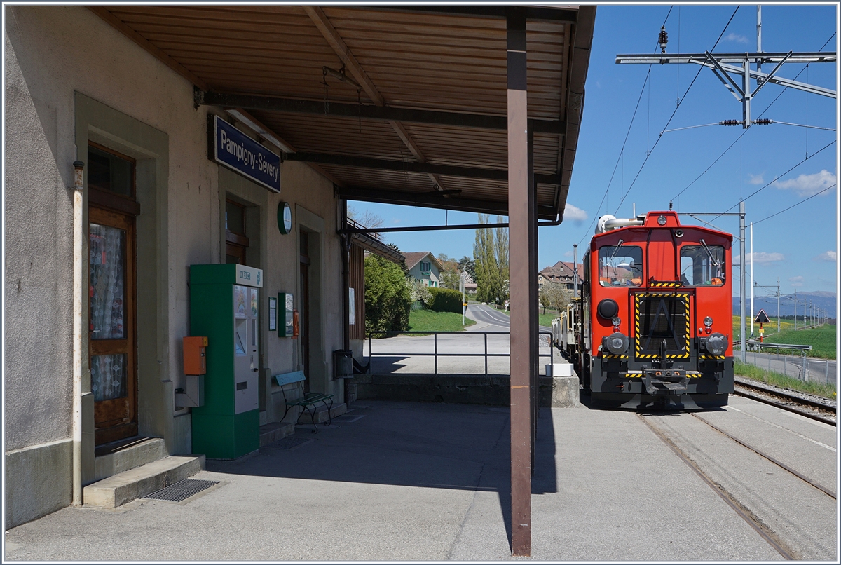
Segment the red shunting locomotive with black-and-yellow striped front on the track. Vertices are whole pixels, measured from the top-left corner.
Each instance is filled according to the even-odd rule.
[[[733,235],[678,214],[599,219],[584,256],[573,357],[595,404],[700,409],[733,393]],[[577,310],[577,311],[575,311]]]

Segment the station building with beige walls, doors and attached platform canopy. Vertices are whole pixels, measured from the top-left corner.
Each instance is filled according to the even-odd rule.
[[[394,9],[289,6],[4,9],[6,528],[81,502],[83,485],[114,473],[99,464],[101,446],[153,437],[163,440],[164,455],[195,453],[193,409],[176,401],[188,386],[182,338],[194,335],[192,266],[236,264],[260,273],[259,284],[250,287],[257,288],[259,314],[252,335],[259,354],[251,370],[257,373],[259,424],[267,425],[284,415],[281,388],[272,379],[278,373],[301,371],[308,391],[332,394],[337,406],[346,402],[334,351],[358,351],[364,338],[362,252],[393,255],[375,238],[349,236],[347,199],[507,210],[504,178],[462,180],[470,175],[460,176],[455,167],[495,160],[492,172],[505,171],[505,16],[499,10],[479,18],[468,11],[456,22],[473,25],[463,29],[464,45],[496,50],[496,91],[471,108],[476,85],[462,83],[463,96],[452,94],[458,85],[447,82],[451,71],[435,71],[440,80],[428,88],[373,64],[370,80],[358,80],[366,57],[373,61],[391,51],[368,45],[368,51],[358,49],[357,61],[352,40],[342,39],[352,35],[359,44],[380,34],[380,40],[397,41],[394,29],[441,29],[458,13],[418,18]],[[543,175],[536,184],[536,217],[559,221],[595,10],[582,8],[584,31],[577,35],[578,9],[557,13],[563,17],[553,12],[536,24],[529,20],[530,33],[547,40],[530,44],[545,52],[529,61],[529,69],[537,68],[533,117],[549,124],[536,134],[534,166]],[[579,59],[583,63],[573,71]],[[426,61],[418,65],[433,72]],[[320,104],[325,115],[295,114],[300,108],[272,114],[247,107],[242,96],[208,102],[220,92],[298,98]],[[403,96],[407,92],[415,98]],[[267,103],[262,99],[254,108]],[[477,125],[467,114],[458,114],[460,123],[426,129],[365,114],[388,106],[495,114],[497,121],[479,124],[489,129],[490,141],[468,150],[465,140],[475,130],[459,128]],[[359,115],[340,116],[342,108],[358,108]],[[529,112],[531,119],[532,106]],[[558,119],[561,129],[553,125]],[[451,139],[438,140],[447,135]],[[227,157],[220,156],[223,150]],[[307,150],[341,154],[344,161],[307,158]],[[352,159],[365,156],[412,161],[416,169],[354,168]],[[443,188],[449,193],[430,195]],[[74,224],[74,214],[81,214],[81,223]],[[75,287],[74,269],[81,272]],[[284,304],[272,313],[272,303],[278,304],[269,300],[281,295],[292,296],[297,336],[269,327],[272,316],[283,323]],[[214,347],[220,344],[210,342],[208,351]]]

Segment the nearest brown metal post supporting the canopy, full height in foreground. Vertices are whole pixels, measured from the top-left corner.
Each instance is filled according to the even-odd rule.
[[[510,8],[508,46],[508,218],[510,256],[511,555],[532,554],[531,292],[534,194],[529,190],[526,105],[526,13]]]

